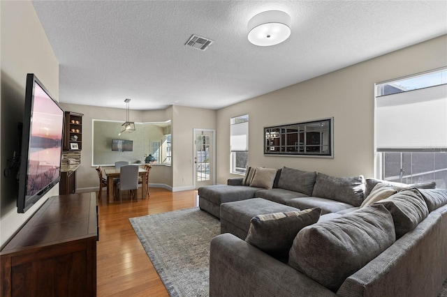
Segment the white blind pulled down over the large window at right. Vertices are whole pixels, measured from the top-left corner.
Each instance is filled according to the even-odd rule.
[[[447,148],[447,85],[376,97],[376,151]]]

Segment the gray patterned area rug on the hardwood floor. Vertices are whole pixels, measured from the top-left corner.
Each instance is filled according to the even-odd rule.
[[[171,297],[208,296],[217,218],[188,208],[129,220]]]

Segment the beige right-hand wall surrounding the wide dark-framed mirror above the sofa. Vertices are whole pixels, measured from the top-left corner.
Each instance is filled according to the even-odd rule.
[[[230,174],[230,117],[249,114],[249,165],[374,176],[374,83],[446,66],[447,36],[217,111],[217,183]],[[263,155],[263,128],[334,116],[333,159]]]

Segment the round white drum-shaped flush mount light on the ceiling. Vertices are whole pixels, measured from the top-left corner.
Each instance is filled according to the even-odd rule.
[[[279,10],[258,13],[248,24],[249,41],[260,47],[277,45],[291,36],[291,17]]]

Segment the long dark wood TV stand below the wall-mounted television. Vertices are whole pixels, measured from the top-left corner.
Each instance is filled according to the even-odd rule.
[[[1,296],[96,296],[96,194],[50,197],[1,250]]]

